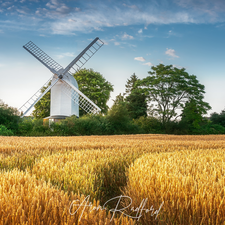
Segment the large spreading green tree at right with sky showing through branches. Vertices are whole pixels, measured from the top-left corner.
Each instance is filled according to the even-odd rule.
[[[161,118],[163,126],[172,119],[176,120],[185,102],[191,99],[205,111],[211,109],[203,101],[204,85],[200,84],[195,75],[189,75],[184,68],[178,69],[172,65],[159,64],[152,66],[149,76],[139,82],[148,95],[148,101],[154,103],[153,111]]]

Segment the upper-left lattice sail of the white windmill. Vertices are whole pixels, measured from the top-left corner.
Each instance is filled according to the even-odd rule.
[[[44,51],[42,51],[37,45],[35,45],[32,41],[29,41],[26,45],[23,46],[23,48],[25,48],[30,54],[32,54],[37,60],[39,60],[54,74],[63,68],[55,60],[48,56]]]

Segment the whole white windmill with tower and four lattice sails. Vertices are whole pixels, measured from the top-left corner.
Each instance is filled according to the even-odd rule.
[[[95,38],[65,69],[38,48],[33,42],[23,47],[37,60],[45,65],[53,76],[19,109],[24,117],[32,107],[51,90],[50,121],[76,115],[79,117],[79,107],[87,113],[98,113],[101,109],[78,89],[73,73],[80,68],[102,47],[104,43]],[[51,85],[49,83],[51,82]],[[42,93],[43,88],[46,90]]]

